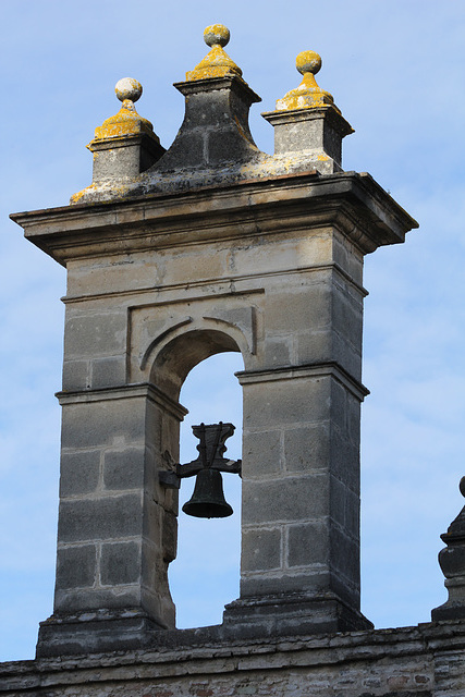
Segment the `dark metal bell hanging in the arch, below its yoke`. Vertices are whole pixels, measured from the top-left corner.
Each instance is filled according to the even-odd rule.
[[[200,469],[195,480],[194,493],[184,503],[183,511],[196,518],[225,518],[233,514],[224,499],[223,479],[218,469]]]

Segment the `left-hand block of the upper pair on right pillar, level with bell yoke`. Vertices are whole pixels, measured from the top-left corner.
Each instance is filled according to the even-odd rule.
[[[282,468],[281,431],[248,431],[242,436],[243,474],[247,477],[273,476]]]

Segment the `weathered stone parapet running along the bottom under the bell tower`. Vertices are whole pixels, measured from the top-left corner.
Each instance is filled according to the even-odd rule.
[[[465,623],[244,638],[158,632],[139,651],[0,664],[1,697],[463,697]]]

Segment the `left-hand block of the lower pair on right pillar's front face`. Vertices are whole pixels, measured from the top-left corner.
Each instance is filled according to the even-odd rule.
[[[271,571],[282,566],[282,528],[246,528],[242,535],[241,571]]]

